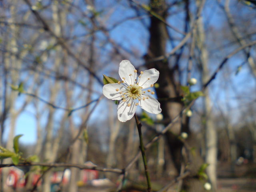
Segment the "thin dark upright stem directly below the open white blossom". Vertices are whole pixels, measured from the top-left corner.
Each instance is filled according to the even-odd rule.
[[[138,119],[138,116],[136,115],[136,113],[134,114],[135,120],[136,120],[136,125],[138,128],[138,133],[139,133],[139,137],[140,137],[140,151],[142,154],[142,159],[143,159],[143,164],[144,164],[144,169],[145,169],[145,175],[146,175],[146,179],[147,179],[147,183],[148,183],[148,192],[151,192],[151,181],[150,181],[150,177],[149,177],[149,173],[148,173],[148,165],[147,165],[147,159],[146,159],[146,154],[145,154],[145,149],[144,149],[144,144],[143,144],[143,138],[142,138],[142,131],[141,131],[141,127],[142,124],[140,123],[140,120]]]

